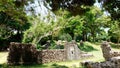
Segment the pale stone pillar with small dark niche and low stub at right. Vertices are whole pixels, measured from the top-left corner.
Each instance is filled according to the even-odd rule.
[[[91,54],[87,54],[87,53],[81,51],[78,48],[77,43],[75,41],[66,42],[64,47],[66,49],[66,54],[67,54],[68,60],[78,60],[80,58],[93,56]]]

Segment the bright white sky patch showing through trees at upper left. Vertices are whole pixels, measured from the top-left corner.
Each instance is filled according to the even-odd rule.
[[[48,22],[48,19],[45,18],[48,15],[50,15],[52,19],[55,19],[55,14],[51,12],[50,10],[51,7],[49,6],[49,4],[47,4],[47,8],[44,6],[44,4],[47,4],[47,3],[44,3],[44,0],[35,0],[34,4],[29,3],[29,5],[26,6],[26,10],[29,10],[31,9],[31,7],[33,7],[35,15],[40,15],[40,19],[44,20],[45,22]],[[31,15],[30,11],[26,13],[27,15]]]

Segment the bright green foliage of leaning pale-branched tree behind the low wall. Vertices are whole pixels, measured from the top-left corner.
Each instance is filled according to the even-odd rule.
[[[65,15],[61,12],[59,13],[62,17],[58,16],[56,22],[51,21],[50,23],[45,23],[39,20],[39,17],[31,20],[31,22],[34,23],[31,28],[24,33],[23,42],[38,44],[41,43],[43,39],[47,41],[54,40],[55,38],[70,41],[75,35],[80,35],[82,32],[82,18],[80,18],[80,16],[70,17],[69,12],[64,12]]]

